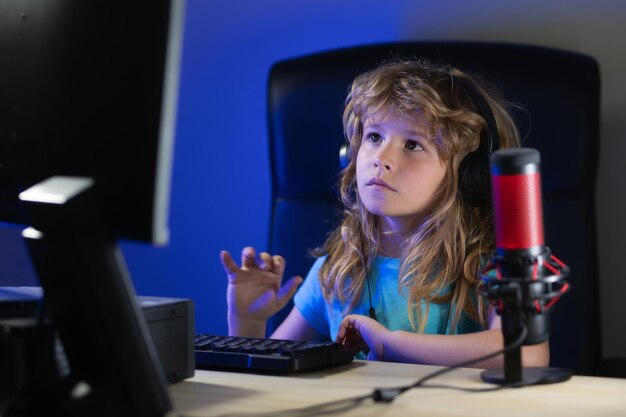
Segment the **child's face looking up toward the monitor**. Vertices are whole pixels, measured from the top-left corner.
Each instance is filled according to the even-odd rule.
[[[385,112],[365,120],[357,187],[367,210],[388,230],[406,231],[415,215],[424,215],[446,175],[429,131],[422,116]]]

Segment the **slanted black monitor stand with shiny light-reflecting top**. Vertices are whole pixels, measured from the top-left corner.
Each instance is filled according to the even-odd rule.
[[[58,394],[61,415],[162,416],[172,408],[163,369],[96,187],[52,177],[20,194],[44,308],[67,356],[65,375],[44,391]]]

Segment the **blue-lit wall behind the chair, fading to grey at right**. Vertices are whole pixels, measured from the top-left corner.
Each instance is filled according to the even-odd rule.
[[[193,298],[196,329],[226,332],[226,277],[218,253],[267,244],[265,98],[276,60],[396,40],[532,43],[586,53],[600,63],[603,343],[605,355],[626,356],[620,262],[626,235],[626,176],[620,172],[626,154],[625,21],[626,3],[617,0],[187,0],[171,241],[165,248],[121,242],[137,292]],[[37,285],[19,230],[8,226],[0,227],[0,285]]]

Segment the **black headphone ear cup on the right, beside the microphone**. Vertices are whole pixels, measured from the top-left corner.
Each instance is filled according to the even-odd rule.
[[[480,150],[470,153],[461,161],[459,194],[470,207],[484,206],[491,199],[489,157]]]

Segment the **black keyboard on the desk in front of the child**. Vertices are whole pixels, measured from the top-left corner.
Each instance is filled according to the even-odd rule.
[[[349,363],[353,353],[340,343],[198,334],[196,368],[299,372]]]

